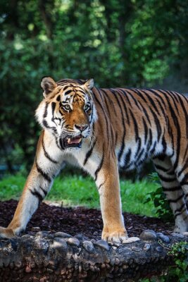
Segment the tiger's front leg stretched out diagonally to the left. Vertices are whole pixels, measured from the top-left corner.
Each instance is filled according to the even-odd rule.
[[[53,157],[50,152],[53,152]],[[54,176],[61,168],[61,154],[54,140],[46,136],[44,141],[44,133],[42,133],[37,145],[35,162],[25,183],[13,220],[7,228],[0,227],[0,238],[12,238],[25,230],[32,214],[49,192]]]

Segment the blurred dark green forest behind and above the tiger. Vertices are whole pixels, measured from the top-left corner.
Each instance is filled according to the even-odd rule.
[[[1,0],[0,168],[30,168],[40,80],[188,92],[187,0]]]

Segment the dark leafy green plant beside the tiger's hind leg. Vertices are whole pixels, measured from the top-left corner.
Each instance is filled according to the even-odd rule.
[[[159,178],[157,173],[151,173],[150,179],[154,183],[159,184]],[[163,188],[158,187],[155,191],[151,191],[147,194],[146,203],[153,202],[156,207],[156,215],[165,220],[173,220],[173,212],[170,209],[170,205],[166,200],[165,194],[163,193]]]

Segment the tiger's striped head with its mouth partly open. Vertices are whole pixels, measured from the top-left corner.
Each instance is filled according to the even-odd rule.
[[[79,82],[78,82],[79,81]],[[82,147],[82,138],[91,137],[96,109],[92,98],[94,80],[61,80],[42,78],[44,99],[36,116],[40,125],[49,130],[61,149]]]

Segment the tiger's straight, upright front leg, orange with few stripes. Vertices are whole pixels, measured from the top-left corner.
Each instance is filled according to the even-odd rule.
[[[122,243],[127,240],[128,236],[121,209],[118,166],[112,162],[104,164],[96,174],[96,185],[99,190],[104,222],[102,239]]]

